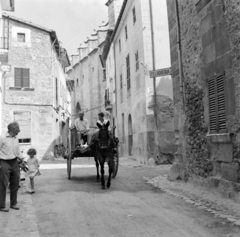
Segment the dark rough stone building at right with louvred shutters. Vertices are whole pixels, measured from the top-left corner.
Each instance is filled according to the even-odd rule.
[[[239,3],[167,1],[182,178],[240,182]]]

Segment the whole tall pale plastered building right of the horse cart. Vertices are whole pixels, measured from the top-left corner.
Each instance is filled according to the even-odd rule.
[[[141,162],[150,157],[156,163],[168,162],[175,149],[172,79],[156,78],[154,97],[149,76],[154,64],[155,69],[170,67],[166,2],[109,0],[106,5],[110,29],[103,51],[106,109],[117,126],[121,155],[135,156]]]

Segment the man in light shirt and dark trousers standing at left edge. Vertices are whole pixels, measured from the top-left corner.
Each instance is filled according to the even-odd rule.
[[[6,191],[10,188],[10,207],[19,210],[17,193],[19,187],[19,166],[17,157],[21,157],[16,136],[20,132],[17,122],[8,125],[8,132],[0,136],[0,211],[8,212]]]

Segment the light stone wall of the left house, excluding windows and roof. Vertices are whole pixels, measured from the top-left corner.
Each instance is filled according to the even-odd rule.
[[[26,33],[27,42],[17,42],[16,32]],[[53,157],[55,144],[63,142],[60,127],[63,119],[54,109],[55,77],[59,80],[64,78],[64,72],[52,48],[49,32],[10,20],[9,64],[12,70],[4,76],[3,131],[6,132],[7,124],[14,120],[14,111],[31,112],[31,142],[21,144],[21,149],[25,156],[27,149],[34,147],[37,149],[39,159]],[[15,67],[30,69],[30,88],[15,87]],[[58,92],[60,92],[60,82]],[[63,106],[63,97],[60,93],[58,96],[59,103]]]

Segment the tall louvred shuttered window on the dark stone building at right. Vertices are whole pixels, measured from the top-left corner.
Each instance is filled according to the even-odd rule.
[[[226,132],[225,76],[208,80],[210,133]]]

